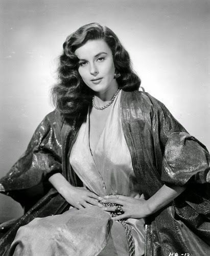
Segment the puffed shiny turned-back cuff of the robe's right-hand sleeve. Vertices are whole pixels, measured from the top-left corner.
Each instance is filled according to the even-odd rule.
[[[209,165],[210,155],[200,141],[188,133],[173,133],[165,147],[161,180],[178,186],[209,183]]]

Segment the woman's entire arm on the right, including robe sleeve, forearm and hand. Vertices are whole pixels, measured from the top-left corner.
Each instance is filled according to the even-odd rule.
[[[103,202],[120,204],[125,212],[119,217],[114,217],[114,220],[147,217],[180,195],[184,191],[186,183],[209,182],[210,157],[205,146],[185,131],[164,104],[151,96],[149,97],[153,103],[151,116],[155,156],[162,153],[163,157],[163,159],[157,157],[159,162],[157,162],[156,168],[159,173],[161,172],[159,179],[165,185],[148,200],[119,195],[106,196]],[[139,102],[141,101],[139,100]],[[139,109],[141,109],[141,105],[139,105]],[[166,184],[170,184],[170,187]],[[149,188],[152,188],[152,184],[148,183]],[[148,191],[148,194],[150,193],[151,191]],[[115,209],[116,207],[105,208],[107,211]]]

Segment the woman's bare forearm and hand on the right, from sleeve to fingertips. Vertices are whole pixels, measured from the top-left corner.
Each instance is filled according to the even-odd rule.
[[[121,220],[125,218],[141,219],[145,218],[164,207],[178,197],[185,187],[163,185],[151,198],[148,200],[135,199],[121,195],[105,196],[103,203],[116,203],[122,205],[124,214],[113,217],[113,220]],[[114,207],[104,207],[106,211],[114,211]]]

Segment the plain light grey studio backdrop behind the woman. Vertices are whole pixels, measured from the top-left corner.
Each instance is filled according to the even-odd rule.
[[[209,1],[1,0],[0,177],[54,109],[49,91],[66,36],[98,22],[129,51],[147,92],[210,148]],[[0,222],[22,214],[0,195]]]

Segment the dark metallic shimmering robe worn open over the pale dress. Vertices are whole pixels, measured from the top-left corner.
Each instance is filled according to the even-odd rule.
[[[210,156],[205,146],[147,93],[122,92],[121,110],[123,133],[145,199],[165,183],[186,185],[180,196],[146,219],[145,255],[210,254]],[[26,153],[0,180],[3,193],[30,208],[0,240],[0,255],[6,255],[21,225],[68,209],[54,188],[48,191],[47,179],[62,172],[73,185],[82,185],[68,164],[81,122],[69,124],[58,111],[50,113],[38,126]]]

